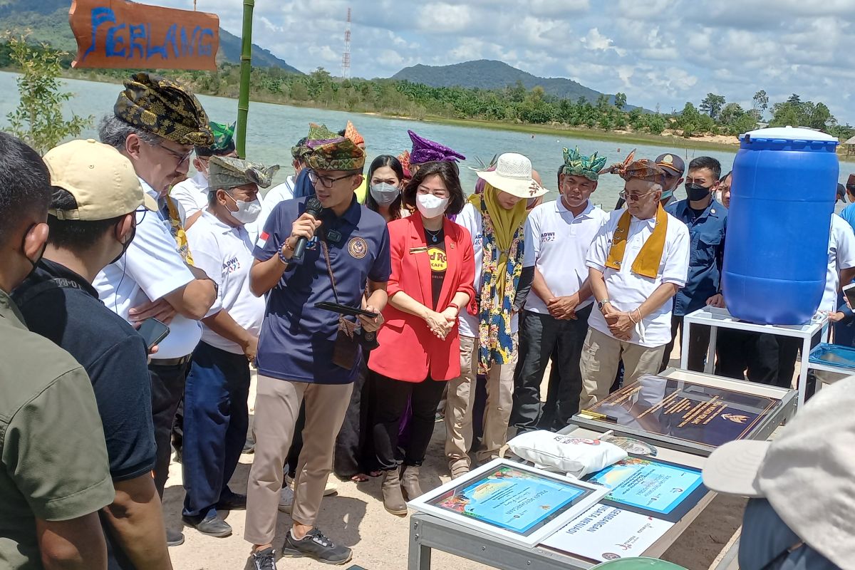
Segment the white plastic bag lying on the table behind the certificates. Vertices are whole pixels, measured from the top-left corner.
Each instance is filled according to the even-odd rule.
[[[596,473],[628,457],[627,452],[615,444],[545,430],[522,433],[511,439],[508,446],[526,461],[575,477]]]

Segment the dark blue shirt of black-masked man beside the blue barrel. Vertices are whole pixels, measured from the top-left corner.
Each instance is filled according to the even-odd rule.
[[[705,307],[706,300],[719,291],[728,209],[713,198],[697,217],[688,200],[670,203],[665,211],[688,226],[691,240],[686,286],[674,297],[674,315],[681,317]]]

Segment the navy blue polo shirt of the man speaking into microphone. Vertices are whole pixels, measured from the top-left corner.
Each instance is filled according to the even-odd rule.
[[[258,261],[277,256],[291,236],[293,220],[305,211],[306,198],[278,203],[268,217],[253,255]],[[338,303],[358,308],[366,279],[385,283],[392,273],[389,232],[380,214],[360,206],[354,197],[340,217],[326,210],[318,233],[326,237]],[[333,346],[339,315],[315,309],[315,303],[336,303],[318,236],[301,261],[293,261],[269,292],[262,331],[258,337],[258,373],[272,378],[315,384],[348,384],[353,366],[333,364]]]

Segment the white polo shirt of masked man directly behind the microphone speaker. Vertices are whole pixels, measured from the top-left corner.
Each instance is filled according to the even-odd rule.
[[[236,323],[251,335],[258,336],[264,318],[264,297],[250,291],[250,268],[254,243],[244,227],[223,223],[207,209],[187,230],[187,241],[193,252],[193,264],[214,279],[219,291],[208,316],[227,311]],[[211,346],[244,354],[237,343],[222,338],[202,323],[202,340]]]

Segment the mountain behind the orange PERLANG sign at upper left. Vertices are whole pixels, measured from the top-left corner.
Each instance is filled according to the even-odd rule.
[[[31,38],[47,42],[59,50],[77,52],[74,34],[68,26],[68,0],[0,0],[0,30],[31,30]],[[240,38],[220,28],[220,62],[240,63]],[[252,65],[258,68],[281,68],[300,73],[268,50],[252,44]]]

